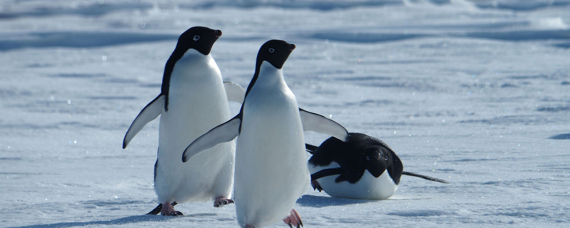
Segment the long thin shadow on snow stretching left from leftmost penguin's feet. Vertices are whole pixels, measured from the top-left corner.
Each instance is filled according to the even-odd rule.
[[[123,224],[127,224],[127,223],[149,222],[149,221],[162,222],[162,221],[167,221],[167,220],[173,219],[173,218],[176,218],[176,217],[174,217],[174,216],[162,216],[162,215],[131,215],[128,217],[117,218],[117,219],[113,219],[113,220],[101,220],[101,221],[91,221],[91,222],[58,222],[58,223],[51,223],[51,224],[14,226],[14,227],[6,227],[6,228],[64,228],[64,227],[91,226],[91,225],[123,225]]]

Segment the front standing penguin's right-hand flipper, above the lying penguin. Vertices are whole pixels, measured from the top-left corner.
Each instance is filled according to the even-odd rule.
[[[337,139],[348,141],[348,131],[343,125],[334,120],[299,108],[303,131],[313,131],[333,136]]]

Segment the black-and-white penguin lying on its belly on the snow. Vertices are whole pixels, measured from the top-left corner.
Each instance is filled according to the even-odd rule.
[[[405,172],[388,145],[362,133],[349,133],[346,142],[331,137],[319,147],[306,148],[313,154],[308,161],[311,185],[332,197],[385,200],[396,192],[402,175],[449,183]]]

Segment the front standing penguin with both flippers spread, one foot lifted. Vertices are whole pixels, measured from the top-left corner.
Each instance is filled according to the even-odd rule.
[[[306,192],[310,177],[303,131],[342,140],[348,136],[335,121],[299,108],[282,71],[294,49],[295,45],[283,40],[264,43],[239,114],[200,136],[182,156],[182,161],[191,160],[203,150],[239,136],[235,211],[241,227],[261,228],[281,220],[291,227],[302,226],[293,206]]]

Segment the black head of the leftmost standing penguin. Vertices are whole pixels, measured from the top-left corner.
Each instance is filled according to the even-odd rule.
[[[186,30],[176,44],[176,49],[186,52],[188,49],[196,49],[203,55],[210,54],[215,41],[222,36],[222,31],[206,27],[192,27]]]

